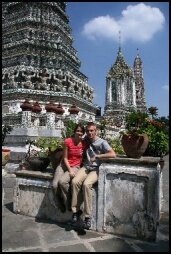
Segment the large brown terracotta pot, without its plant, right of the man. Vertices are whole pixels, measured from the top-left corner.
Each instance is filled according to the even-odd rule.
[[[146,134],[123,135],[121,140],[124,152],[129,158],[140,158],[148,147],[149,139]]]

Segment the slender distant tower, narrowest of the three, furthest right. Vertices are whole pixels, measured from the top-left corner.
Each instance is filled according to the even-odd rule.
[[[143,78],[143,66],[142,61],[137,53],[134,60],[134,77],[135,77],[135,90],[136,90],[136,106],[137,110],[141,112],[146,112],[146,102],[144,95],[144,78]]]

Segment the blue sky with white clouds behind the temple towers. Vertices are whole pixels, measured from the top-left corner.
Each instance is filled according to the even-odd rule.
[[[93,103],[105,105],[105,78],[121,49],[133,67],[138,53],[143,62],[147,107],[169,115],[169,3],[68,2],[66,12],[81,61],[80,71],[94,88]]]

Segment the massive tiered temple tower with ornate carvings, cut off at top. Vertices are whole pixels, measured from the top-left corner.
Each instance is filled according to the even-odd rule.
[[[38,101],[42,112],[49,101],[65,109],[75,103],[80,117],[94,119],[93,88],[79,71],[65,2],[3,2],[2,37],[2,99],[8,113],[21,111],[27,98]]]

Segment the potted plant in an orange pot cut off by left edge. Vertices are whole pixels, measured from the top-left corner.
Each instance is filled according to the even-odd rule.
[[[12,131],[12,127],[9,125],[2,125],[2,146],[5,144],[5,138],[7,134]],[[2,166],[5,166],[10,158],[10,149],[2,147]]]

